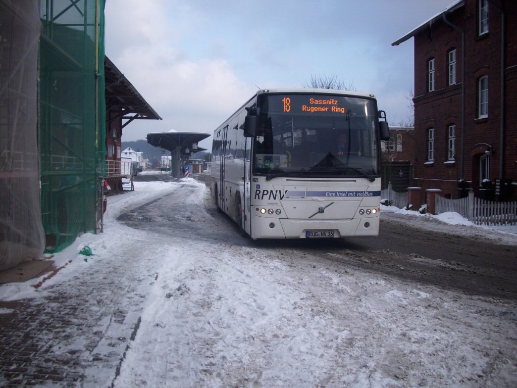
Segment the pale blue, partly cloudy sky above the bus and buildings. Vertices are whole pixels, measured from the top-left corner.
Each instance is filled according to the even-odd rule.
[[[211,135],[257,87],[320,75],[375,94],[390,124],[407,121],[413,38],[391,43],[453,1],[107,0],[106,55],[163,118],[132,122],[122,140]]]

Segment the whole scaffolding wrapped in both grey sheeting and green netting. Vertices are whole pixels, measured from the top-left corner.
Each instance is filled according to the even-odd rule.
[[[0,270],[96,232],[104,93],[104,0],[0,0]]]

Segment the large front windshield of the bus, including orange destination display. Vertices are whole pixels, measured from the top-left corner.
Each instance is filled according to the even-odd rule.
[[[375,99],[270,94],[260,107],[253,173],[276,176],[379,176]]]

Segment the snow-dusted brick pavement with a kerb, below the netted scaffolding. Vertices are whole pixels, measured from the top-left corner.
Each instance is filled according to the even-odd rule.
[[[0,301],[0,387],[111,386],[140,324],[153,263],[90,259],[42,296]],[[2,287],[2,286],[0,286]]]

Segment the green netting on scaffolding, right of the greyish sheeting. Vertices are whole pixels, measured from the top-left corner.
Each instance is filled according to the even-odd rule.
[[[42,0],[39,61],[45,250],[95,232],[105,170],[104,0]]]

